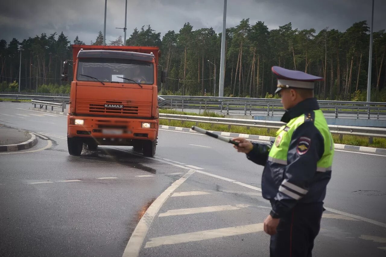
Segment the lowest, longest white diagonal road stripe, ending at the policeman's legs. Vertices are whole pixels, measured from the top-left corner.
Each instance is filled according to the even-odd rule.
[[[156,247],[160,245],[172,245],[175,243],[187,243],[201,241],[220,237],[229,237],[234,235],[243,235],[248,233],[256,233],[264,230],[264,223],[244,225],[238,227],[220,228],[213,230],[205,230],[193,233],[185,233],[179,235],[171,235],[165,237],[150,238],[145,245],[145,248]]]

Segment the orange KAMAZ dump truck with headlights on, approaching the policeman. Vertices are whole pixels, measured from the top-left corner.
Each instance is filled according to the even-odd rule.
[[[67,144],[79,156],[98,145],[129,145],[154,156],[158,135],[158,47],[72,45],[62,80],[73,81],[68,109]],[[165,71],[161,71],[164,82]]]

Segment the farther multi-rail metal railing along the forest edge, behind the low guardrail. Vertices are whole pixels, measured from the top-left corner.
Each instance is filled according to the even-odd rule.
[[[57,94],[58,95],[58,94]],[[64,94],[62,94],[64,95]],[[0,94],[0,98],[69,101],[68,96]],[[247,101],[248,100],[248,101]],[[386,103],[353,101],[318,101],[323,113],[329,117],[386,119]],[[235,115],[282,115],[280,99],[234,98],[212,96],[158,96],[161,108],[199,109]]]

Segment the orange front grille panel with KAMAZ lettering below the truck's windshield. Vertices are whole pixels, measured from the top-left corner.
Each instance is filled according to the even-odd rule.
[[[108,105],[123,105],[123,108],[105,107]],[[151,115],[151,103],[147,102],[124,102],[124,101],[102,101],[102,100],[76,100],[77,113],[124,115],[149,117]]]

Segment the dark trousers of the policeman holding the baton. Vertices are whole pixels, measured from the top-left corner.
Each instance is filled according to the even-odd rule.
[[[280,218],[271,236],[271,257],[312,257],[314,239],[320,230],[323,203],[298,203]]]

